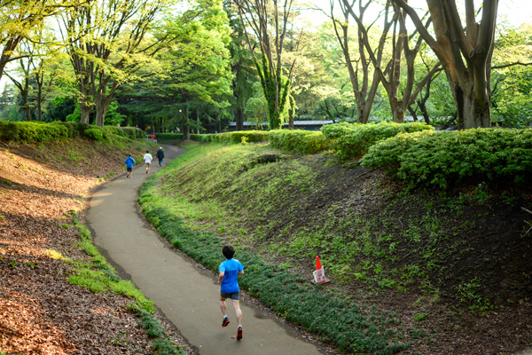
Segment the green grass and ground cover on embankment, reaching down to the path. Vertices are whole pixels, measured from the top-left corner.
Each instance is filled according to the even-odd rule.
[[[145,215],[211,270],[223,243],[236,245],[246,264],[242,287],[340,351],[385,354],[432,343],[437,334],[424,322],[437,315],[426,309],[442,298],[448,312],[478,314],[523,299],[494,285],[497,259],[514,241],[493,234],[507,226],[479,225],[497,214],[486,202],[512,209],[515,197],[482,186],[412,193],[373,170],[269,146],[188,148],[141,188]],[[334,285],[309,283],[316,255]],[[473,267],[465,271],[465,262]],[[404,304],[372,303],[389,295],[407,299],[409,313],[398,311]]]

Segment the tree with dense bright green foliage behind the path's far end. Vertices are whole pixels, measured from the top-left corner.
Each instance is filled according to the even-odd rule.
[[[184,12],[168,17],[155,35],[168,39],[157,55],[162,73],[131,85],[133,91],[124,94],[128,106],[149,112],[153,126],[179,127],[188,138],[197,128],[197,115],[190,114],[198,112],[199,100],[217,108],[229,105],[230,34],[221,0],[194,1]]]

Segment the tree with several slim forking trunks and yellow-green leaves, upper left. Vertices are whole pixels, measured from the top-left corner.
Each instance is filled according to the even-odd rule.
[[[138,80],[137,71],[158,51],[145,35],[168,1],[74,1],[61,13],[61,29],[77,78],[81,120],[88,122],[96,109],[96,124],[103,126],[116,91]]]

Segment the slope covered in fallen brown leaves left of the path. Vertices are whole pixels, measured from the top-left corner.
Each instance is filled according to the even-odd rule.
[[[81,154],[73,158],[72,152]],[[88,257],[76,246],[77,230],[68,225],[68,212],[82,210],[98,177],[121,172],[123,156],[126,152],[107,152],[82,140],[0,151],[0,351],[152,352],[137,317],[126,309],[128,298],[68,284],[71,265],[49,253],[72,260]],[[190,351],[161,320],[167,334]]]

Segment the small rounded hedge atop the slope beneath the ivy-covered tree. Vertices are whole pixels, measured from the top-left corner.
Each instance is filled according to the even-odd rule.
[[[313,130],[270,130],[272,147],[295,154],[317,154],[329,149],[329,139]]]

